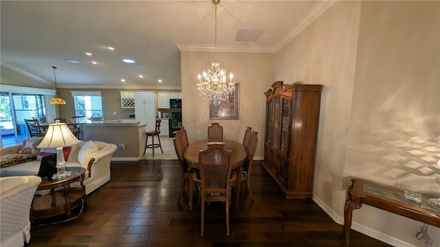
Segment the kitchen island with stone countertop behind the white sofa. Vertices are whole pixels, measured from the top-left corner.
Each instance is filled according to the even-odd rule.
[[[81,140],[103,141],[118,146],[113,161],[137,161],[144,152],[146,125],[134,120],[90,121],[80,119]]]

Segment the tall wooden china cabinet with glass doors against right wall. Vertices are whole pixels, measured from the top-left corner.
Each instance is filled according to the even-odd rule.
[[[322,85],[277,81],[266,95],[263,167],[286,199],[311,197]]]

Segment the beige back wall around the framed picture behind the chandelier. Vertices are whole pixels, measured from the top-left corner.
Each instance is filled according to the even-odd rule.
[[[214,55],[209,52],[181,51],[181,92],[183,125],[190,142],[208,137],[208,126],[219,122],[225,139],[243,141],[247,126],[258,131],[256,158],[263,157],[265,95],[274,82],[274,54],[220,53],[217,60],[240,84],[239,119],[209,119],[209,103],[196,89],[197,75],[210,67]]]

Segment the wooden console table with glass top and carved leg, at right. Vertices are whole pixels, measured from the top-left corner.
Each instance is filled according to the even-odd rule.
[[[353,178],[351,182],[344,209],[344,247],[350,246],[353,210],[360,209],[362,204],[440,227],[440,211],[428,204],[429,198],[439,198],[440,195],[423,194],[420,203],[413,203],[405,200],[404,189],[358,178]]]

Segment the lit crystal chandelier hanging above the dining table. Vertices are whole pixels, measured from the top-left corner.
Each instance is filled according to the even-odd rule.
[[[226,82],[226,71],[220,68],[217,62],[217,4],[220,0],[211,0],[215,6],[215,30],[214,30],[214,62],[208,71],[203,71],[203,77],[199,74],[197,89],[202,99],[208,99],[210,103],[225,101],[234,92],[235,82],[232,82],[232,73],[229,82]]]

